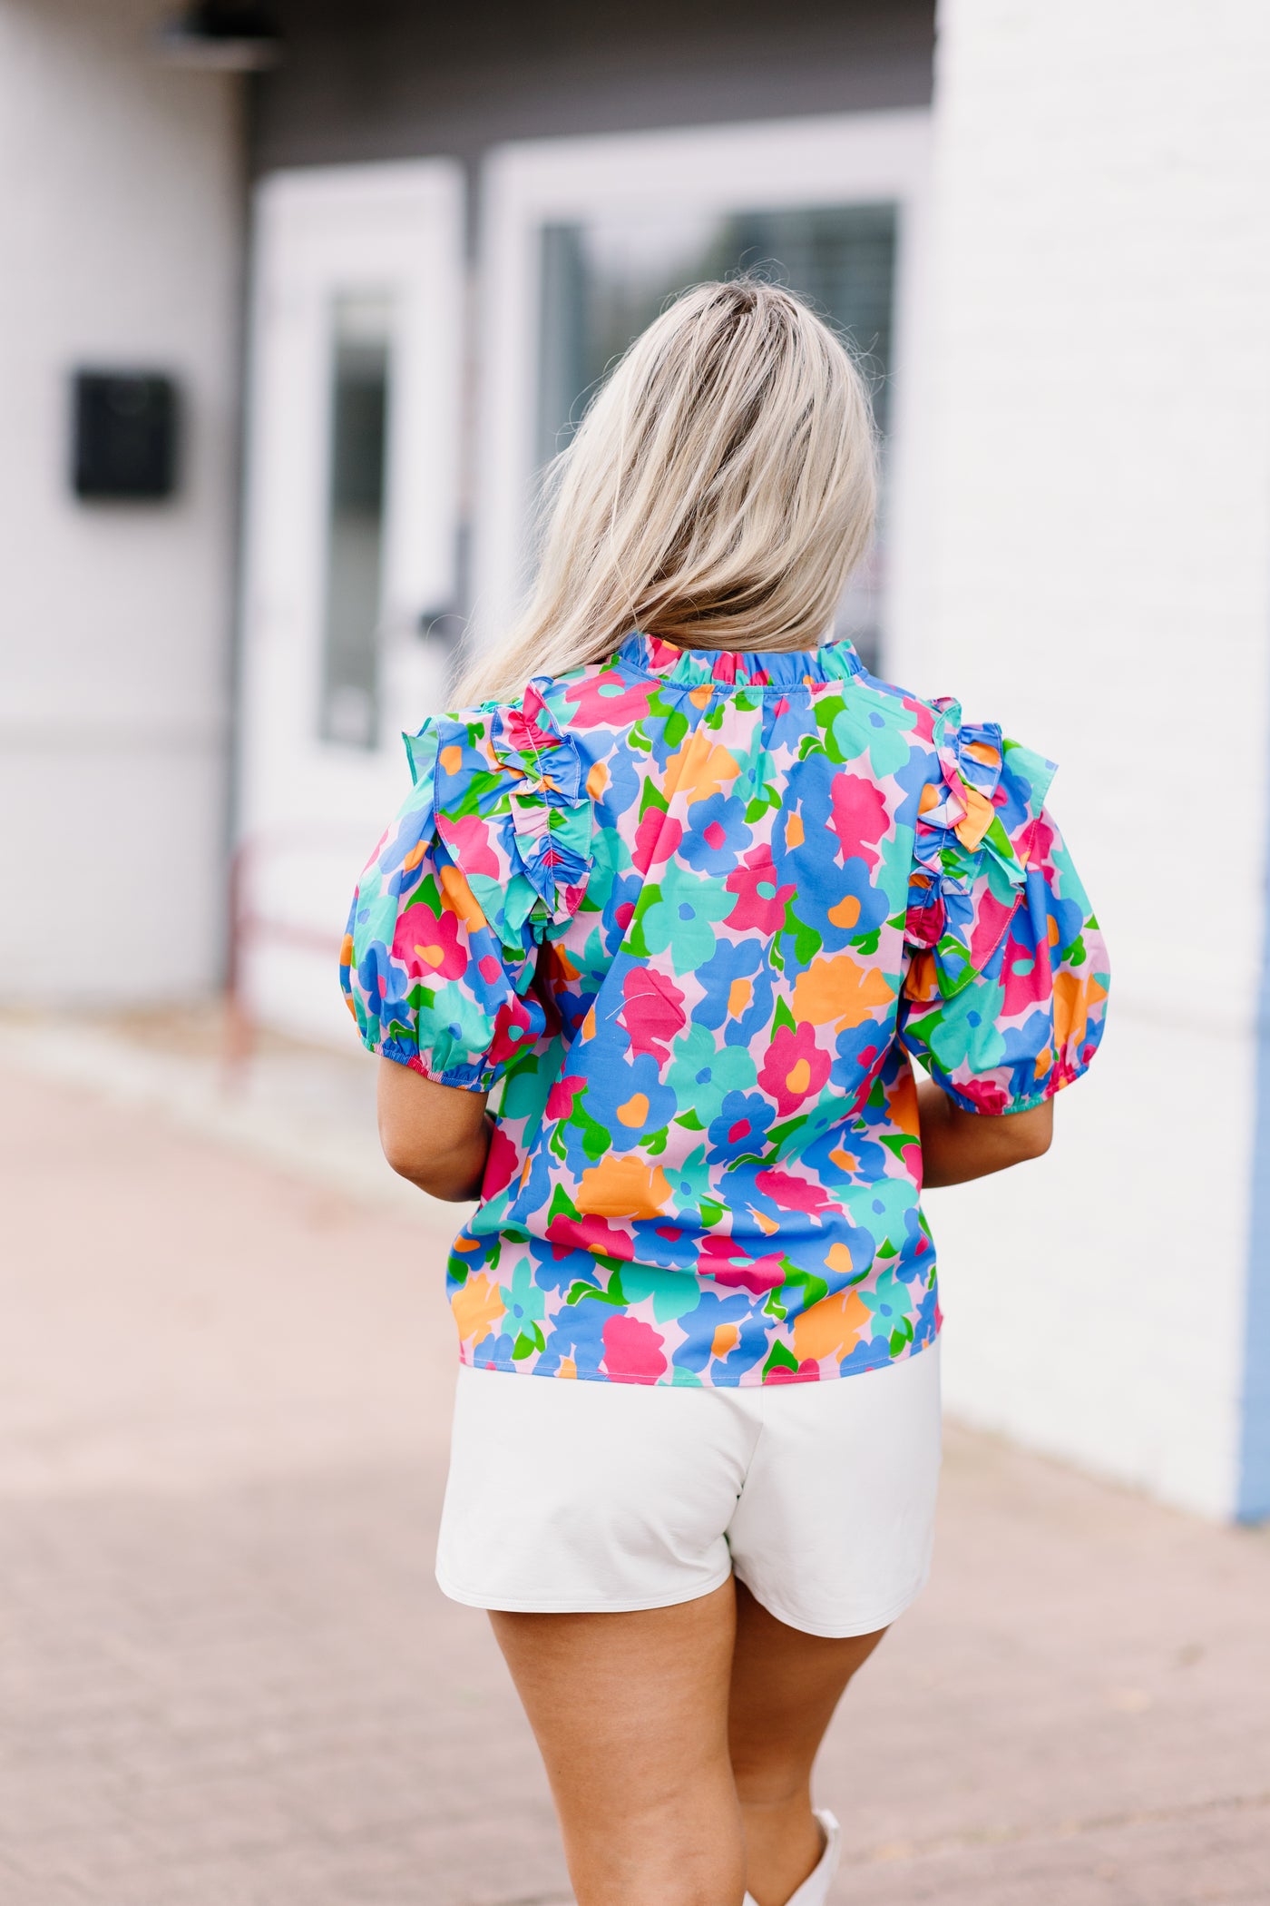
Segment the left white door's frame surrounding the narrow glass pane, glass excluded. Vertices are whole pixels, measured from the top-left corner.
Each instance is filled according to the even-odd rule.
[[[261,1016],[307,1033],[347,1039],[326,936],[339,943],[356,873],[409,785],[400,730],[444,700],[444,663],[415,627],[455,593],[463,194],[455,160],[280,172],[255,194],[238,837],[257,928],[242,964]],[[373,747],[320,734],[331,316],[362,290],[396,299]]]

